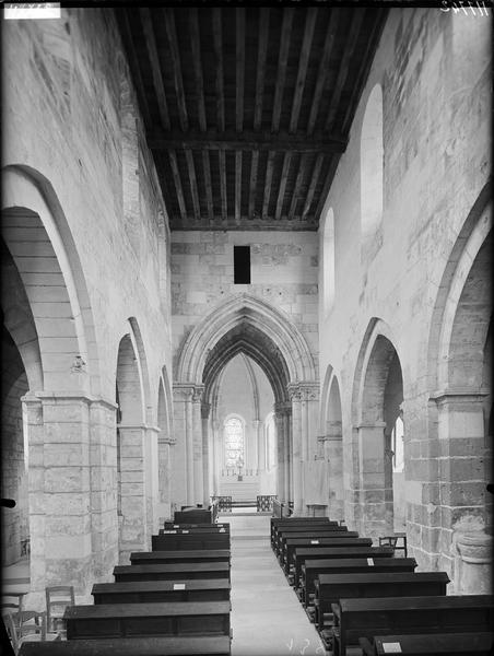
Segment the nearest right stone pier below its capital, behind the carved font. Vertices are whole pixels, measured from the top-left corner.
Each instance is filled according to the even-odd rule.
[[[484,435],[484,397],[479,390],[451,388],[432,396],[438,412],[439,569],[451,579],[454,531],[479,535],[490,523],[492,501],[485,484],[492,454]]]

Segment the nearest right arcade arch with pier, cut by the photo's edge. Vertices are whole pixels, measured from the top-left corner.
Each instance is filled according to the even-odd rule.
[[[486,186],[458,235],[430,338],[430,440],[438,452],[431,483],[440,513],[427,528],[436,536],[439,566],[461,593],[489,591],[491,584],[492,499],[485,489],[492,472],[490,196]]]

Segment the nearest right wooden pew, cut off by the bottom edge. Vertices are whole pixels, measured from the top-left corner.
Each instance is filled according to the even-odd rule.
[[[492,656],[494,634],[485,633],[439,633],[422,635],[376,635],[374,643],[366,637],[360,641],[365,656],[383,656],[399,648],[405,656]]]

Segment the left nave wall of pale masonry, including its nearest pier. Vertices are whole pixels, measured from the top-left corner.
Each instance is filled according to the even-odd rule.
[[[160,375],[164,365],[172,371],[168,233],[114,21],[99,9],[62,9],[61,20],[2,25],[2,164],[44,197],[52,214],[52,225],[45,227],[64,283],[77,294],[85,290],[81,316],[74,320],[83,325],[91,361],[58,373],[59,387],[49,390],[51,400],[42,400],[45,409],[33,410],[38,419],[31,431],[34,436],[39,429],[45,433],[42,444],[49,442],[58,450],[58,461],[48,464],[42,448],[37,464],[37,494],[44,499],[37,512],[45,516],[36,523],[43,532],[37,537],[47,544],[60,539],[67,519],[71,538],[84,546],[85,586],[107,579],[117,558],[115,382],[118,345],[131,332],[130,317],[141,340],[142,430],[157,424]],[[17,194],[15,204],[30,209],[30,198]],[[43,266],[43,258],[37,259],[32,276],[48,277],[51,270]],[[47,303],[44,312],[47,320],[55,319],[50,344],[62,352],[57,309]],[[48,345],[40,344],[44,361]],[[71,400],[61,398],[67,389]],[[44,412],[55,422],[49,435],[43,429]],[[62,425],[64,431],[57,429]],[[67,441],[72,442],[68,452]],[[67,477],[70,490],[63,488]],[[49,503],[55,496],[64,500],[63,507]],[[58,526],[48,528],[51,512]],[[39,576],[32,574],[32,581],[42,586],[49,572],[52,583],[56,577],[71,581],[75,561],[49,563],[56,555],[39,555]],[[77,583],[80,594],[86,591]]]

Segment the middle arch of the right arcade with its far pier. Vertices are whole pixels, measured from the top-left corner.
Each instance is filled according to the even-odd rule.
[[[355,371],[352,421],[357,450],[355,523],[363,535],[393,532],[391,433],[403,401],[400,360],[389,327],[373,318]],[[404,509],[402,511],[404,517]]]

